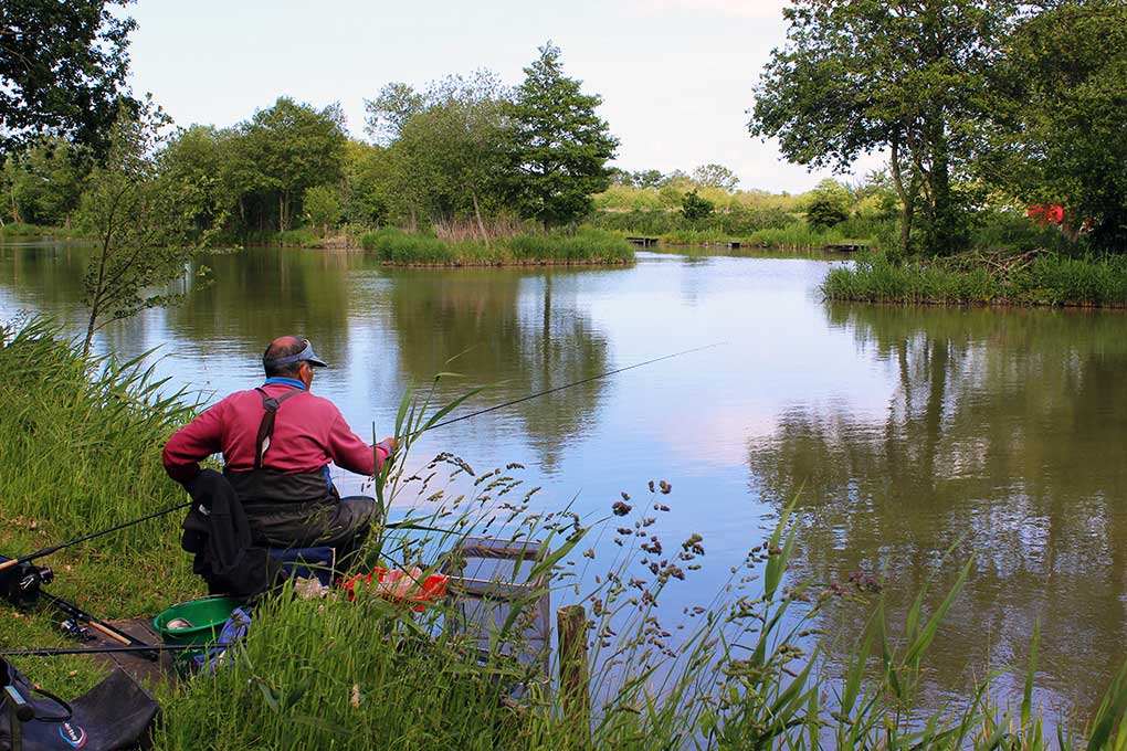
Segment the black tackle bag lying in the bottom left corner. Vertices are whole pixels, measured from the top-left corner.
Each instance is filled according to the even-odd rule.
[[[8,685],[27,706],[16,701]],[[0,659],[0,751],[144,748],[159,712],[157,700],[121,669],[73,701],[64,701],[33,688],[23,673]],[[29,713],[34,717],[18,716]]]

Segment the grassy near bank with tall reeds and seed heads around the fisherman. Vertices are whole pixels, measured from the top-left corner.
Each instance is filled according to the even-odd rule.
[[[160,470],[159,446],[189,410],[158,397],[144,373],[80,358],[48,325],[8,328],[0,343],[6,553],[180,500]],[[397,435],[409,436],[437,414],[425,404],[408,406],[405,400]],[[517,465],[474,472],[441,455],[419,473],[425,479],[403,476],[401,466],[390,470],[384,492],[429,500],[416,503],[425,511],[416,512],[414,528],[375,535],[370,560],[433,570],[444,561],[456,565],[443,551],[467,535],[545,540],[553,556],[522,574],[530,581],[544,574],[553,606],[587,608],[589,722],[575,719],[552,680],[536,680],[512,658],[530,646],[522,626],[534,617],[539,591],[516,604],[485,651],[450,605],[415,616],[378,598],[303,601],[283,593],[256,610],[249,636],[225,667],[161,690],[157,749],[1048,746],[1041,713],[1028,698],[1036,665],[1026,671],[1027,698],[1012,712],[991,704],[988,683],[968,685],[965,700],[939,710],[920,706],[928,647],[969,564],[950,593],[921,596],[907,626],[894,627],[879,599],[787,573],[795,527],[783,510],[725,590],[671,617],[659,606],[663,592],[681,580],[693,585],[708,542],[649,534],[647,516],[675,502],[664,483],[639,488],[633,500],[624,495],[605,519],[585,520],[538,511],[530,501],[536,489],[525,490]],[[598,535],[619,543],[607,546],[618,552],[611,560],[588,547]],[[71,548],[51,560],[60,572],[52,590],[107,616],[154,613],[201,589],[186,573],[177,538],[170,520]],[[593,569],[577,576],[585,566]],[[826,656],[832,652],[817,629],[822,608],[831,606],[852,608],[860,619],[871,615],[866,640],[841,660]],[[0,610],[0,644],[60,643],[51,614],[9,617],[2,604]],[[79,658],[17,664],[69,695],[100,674]],[[557,668],[553,656],[550,674]],[[514,700],[516,687],[523,692]],[[1120,673],[1085,736],[1062,731],[1053,743],[1110,748],[1124,741],[1125,706]]]

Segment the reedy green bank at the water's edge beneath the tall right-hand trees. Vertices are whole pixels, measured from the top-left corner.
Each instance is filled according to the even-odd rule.
[[[1127,306],[1127,258],[966,253],[893,263],[875,253],[833,269],[831,299],[959,305]]]

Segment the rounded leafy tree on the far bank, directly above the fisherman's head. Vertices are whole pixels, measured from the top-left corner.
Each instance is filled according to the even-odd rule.
[[[276,200],[279,231],[292,226],[308,188],[337,184],[344,175],[347,135],[339,105],[317,110],[279,97],[256,111],[241,135],[248,182]]]

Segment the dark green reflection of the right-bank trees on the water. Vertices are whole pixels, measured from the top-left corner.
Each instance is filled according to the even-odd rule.
[[[1124,654],[1121,316],[831,305],[827,318],[896,387],[878,418],[795,403],[749,444],[755,492],[778,504],[804,486],[804,573],[884,571],[903,611],[930,578],[941,597],[974,554],[931,661],[937,688],[1023,663],[1039,620],[1049,683],[1093,706]]]

